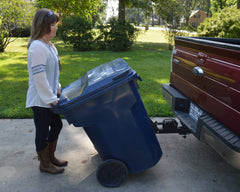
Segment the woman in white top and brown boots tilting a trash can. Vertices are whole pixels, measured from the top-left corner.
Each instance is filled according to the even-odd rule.
[[[60,94],[60,61],[51,39],[56,36],[58,16],[48,10],[39,9],[32,22],[28,43],[29,88],[26,107],[31,107],[36,127],[35,145],[40,160],[40,171],[62,173],[67,161],[54,156],[62,121],[51,111]]]

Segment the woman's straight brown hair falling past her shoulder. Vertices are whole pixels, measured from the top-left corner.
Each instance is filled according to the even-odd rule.
[[[50,33],[51,24],[58,21],[59,17],[51,10],[45,8],[37,10],[32,21],[31,36],[27,48],[34,40]]]

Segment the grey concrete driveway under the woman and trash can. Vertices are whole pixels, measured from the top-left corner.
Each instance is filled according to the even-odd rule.
[[[30,119],[0,120],[0,192],[239,192],[240,171],[229,166],[194,136],[158,135],[163,150],[159,163],[130,175],[118,188],[96,180],[101,164],[82,128],[63,120],[57,155],[69,160],[63,174],[38,170],[34,125]]]

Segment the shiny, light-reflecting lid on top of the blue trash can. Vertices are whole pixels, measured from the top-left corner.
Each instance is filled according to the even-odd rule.
[[[62,89],[60,98],[69,101],[76,97],[85,98],[97,91],[123,81],[136,74],[121,58],[102,64],[84,74],[81,78]]]

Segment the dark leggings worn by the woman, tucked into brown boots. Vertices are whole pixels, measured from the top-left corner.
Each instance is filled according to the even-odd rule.
[[[58,139],[62,129],[60,115],[53,113],[49,108],[32,107],[36,127],[35,145],[37,152],[43,150],[47,143]]]

